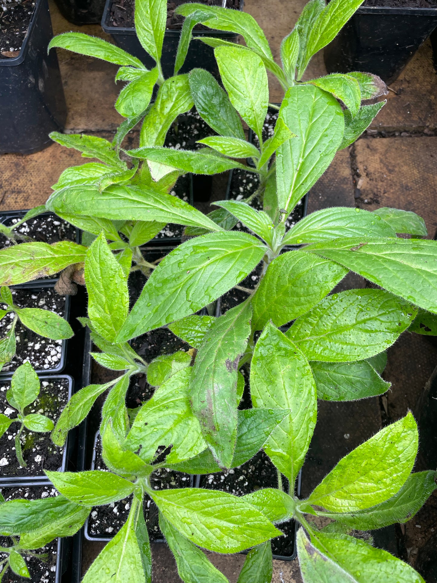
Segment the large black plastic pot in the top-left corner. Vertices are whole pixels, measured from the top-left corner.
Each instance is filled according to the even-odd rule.
[[[48,0],[37,0],[22,48],[0,59],[0,154],[29,154],[49,146],[48,134],[62,132],[66,105],[52,38]]]

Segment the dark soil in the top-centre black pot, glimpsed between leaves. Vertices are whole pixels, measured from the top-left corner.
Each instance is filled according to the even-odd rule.
[[[222,5],[222,0],[199,0],[199,2],[208,6]],[[186,0],[167,0],[167,24],[165,25],[167,29],[180,30],[182,28],[184,17],[175,14],[174,11],[177,6],[185,3]],[[134,6],[134,0],[112,0],[110,13],[107,18],[108,26],[133,28]],[[238,9],[239,0],[227,0],[226,8]],[[197,24],[195,26],[195,30],[209,29],[207,29],[207,27],[203,26],[202,24]]]

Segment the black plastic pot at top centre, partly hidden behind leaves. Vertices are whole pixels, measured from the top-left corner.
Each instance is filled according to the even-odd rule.
[[[112,38],[114,38],[115,44],[117,44],[118,47],[123,48],[131,55],[139,58],[147,68],[153,68],[155,66],[155,62],[141,46],[136,36],[134,27],[125,28],[121,26],[110,26],[109,16],[111,2],[112,0],[106,0],[103,17],[101,19],[101,26],[103,30],[105,33],[111,34]],[[240,0],[240,10],[243,9],[243,4],[243,0]],[[191,69],[199,67],[206,69],[212,73],[217,80],[220,80],[216,58],[214,57],[214,49],[194,39],[202,36],[208,36],[222,38],[226,41],[235,41],[238,35],[222,30],[193,30],[192,34],[193,41],[190,43],[184,66],[182,66],[179,73],[188,73],[191,71]],[[165,30],[161,67],[166,79],[171,77],[174,72],[174,62],[178,50],[180,36],[180,30]]]

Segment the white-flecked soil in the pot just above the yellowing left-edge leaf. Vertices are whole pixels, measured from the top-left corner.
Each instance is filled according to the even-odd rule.
[[[2,220],[0,217],[0,221],[8,227],[17,223],[18,220],[11,217]],[[34,217],[34,219],[20,224],[14,232],[19,243],[24,243],[27,240],[40,241],[41,243],[76,241],[76,228],[56,215]],[[11,241],[0,233],[0,249],[9,247],[9,245],[11,245]]]

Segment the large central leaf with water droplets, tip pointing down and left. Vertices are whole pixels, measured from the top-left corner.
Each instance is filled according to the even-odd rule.
[[[170,324],[210,304],[241,282],[258,265],[265,250],[258,239],[245,233],[214,233],[185,241],[154,269],[117,342]]]

